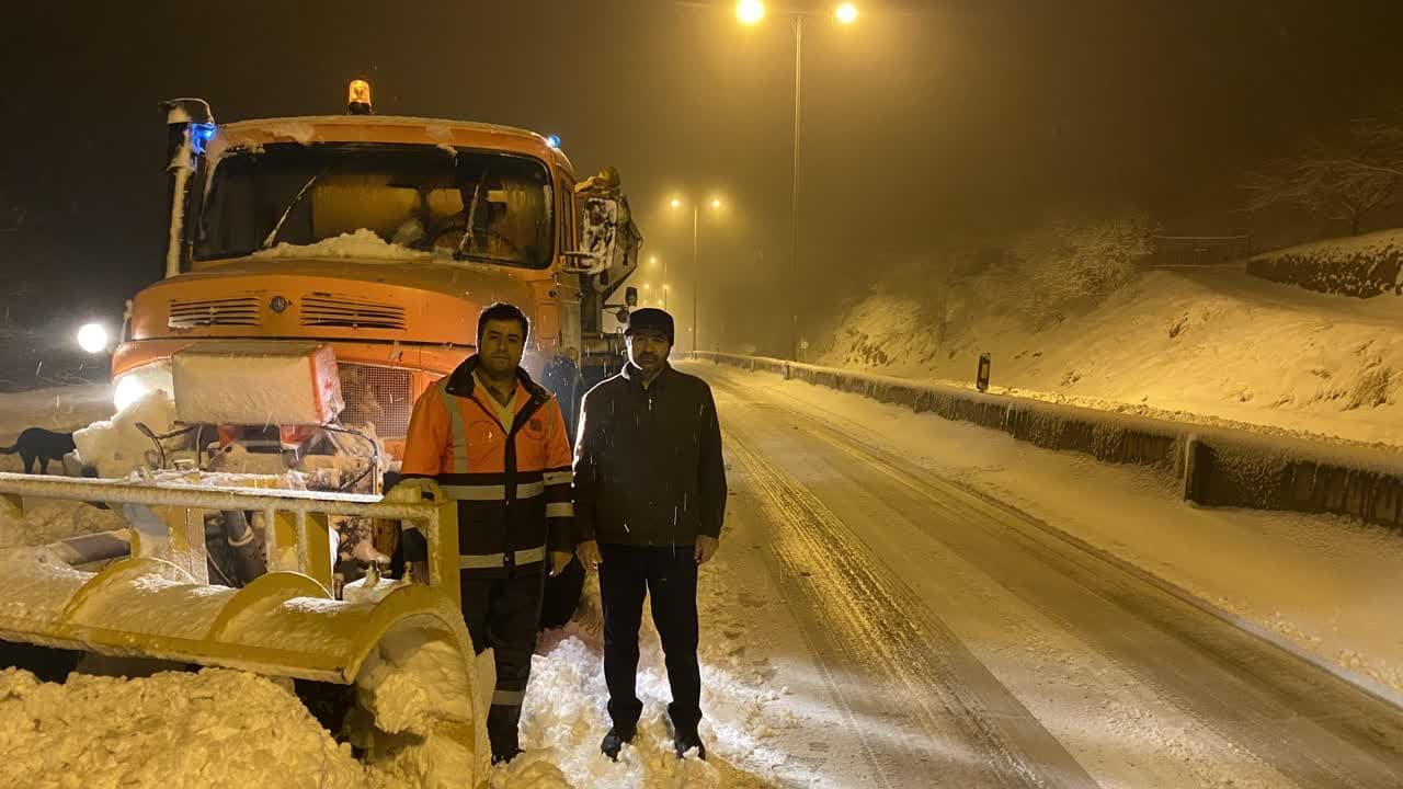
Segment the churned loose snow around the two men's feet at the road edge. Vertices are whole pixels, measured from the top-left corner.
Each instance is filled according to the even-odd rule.
[[[528,752],[497,768],[492,788],[776,786],[776,768],[787,757],[776,748],[774,730],[793,723],[794,715],[780,709],[786,689],[770,682],[776,668],[763,646],[766,635],[774,637],[774,632],[766,629],[772,619],[765,612],[738,608],[741,599],[763,599],[753,588],[759,581],[738,573],[727,556],[742,548],[725,545],[713,563],[702,569],[699,580],[702,709],[706,715],[700,730],[707,761],[694,754],[679,761],[672,751],[666,723],[671,691],[658,635],[648,616],[644,616],[640,639],[638,698],[644,710],[638,736],[617,764],[599,754],[599,741],[609,730],[603,642],[598,623],[571,623],[542,636],[522,710],[522,745]],[[598,612],[595,577],[588,578],[585,590],[586,608]],[[570,783],[561,775],[570,776]]]

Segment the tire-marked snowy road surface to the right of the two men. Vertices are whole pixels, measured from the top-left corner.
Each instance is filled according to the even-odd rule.
[[[683,369],[723,418],[728,570],[777,592],[749,649],[800,710],[766,743],[784,785],[1403,785],[1396,708],[773,376]]]

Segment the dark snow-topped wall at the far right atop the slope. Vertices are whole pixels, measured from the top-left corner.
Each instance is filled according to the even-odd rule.
[[[1322,293],[1403,295],[1403,229],[1260,254],[1247,261],[1247,272]]]

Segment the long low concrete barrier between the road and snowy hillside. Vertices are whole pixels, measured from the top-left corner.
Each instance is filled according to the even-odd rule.
[[[1333,512],[1403,529],[1403,452],[1396,449],[1117,414],[767,357],[690,355],[999,430],[1045,449],[1163,469],[1181,480],[1184,498],[1195,504]]]

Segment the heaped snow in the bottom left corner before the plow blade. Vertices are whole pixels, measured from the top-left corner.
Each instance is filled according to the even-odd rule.
[[[63,685],[0,671],[4,786],[363,786],[363,768],[283,687],[237,671]]]

